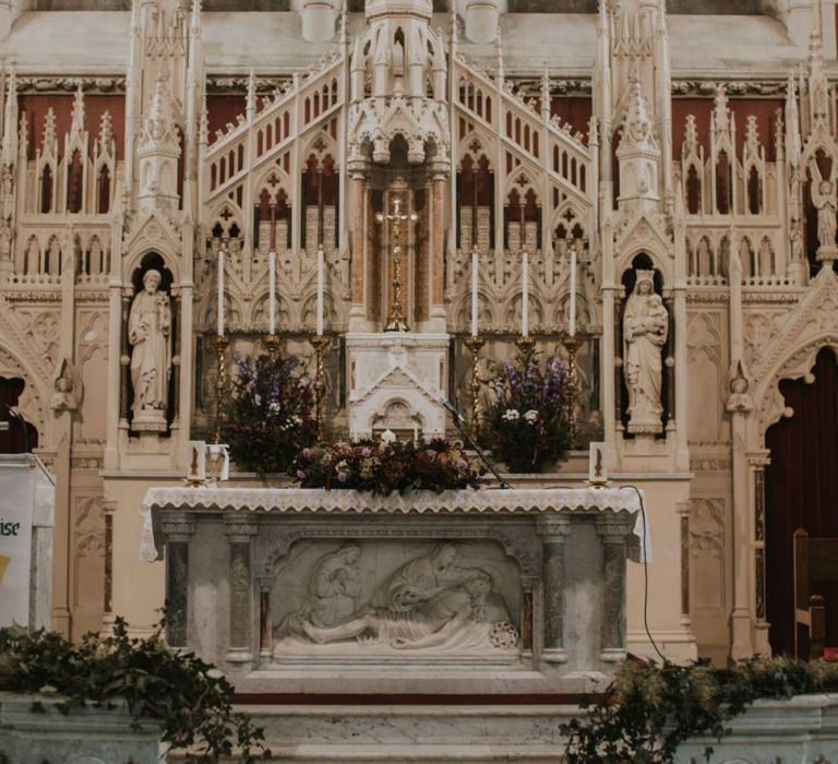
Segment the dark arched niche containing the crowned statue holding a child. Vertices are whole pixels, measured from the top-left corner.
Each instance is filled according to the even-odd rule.
[[[672,306],[651,258],[641,253],[623,274],[625,298],[619,314],[621,413],[626,438],[662,438],[672,406]]]

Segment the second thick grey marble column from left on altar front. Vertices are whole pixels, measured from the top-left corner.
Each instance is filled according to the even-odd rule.
[[[229,642],[225,660],[244,664],[253,660],[253,570],[252,542],[258,525],[244,513],[224,517],[230,550]]]

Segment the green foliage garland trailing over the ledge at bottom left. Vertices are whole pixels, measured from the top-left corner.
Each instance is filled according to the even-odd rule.
[[[217,762],[237,749],[242,764],[268,759],[264,732],[232,712],[232,685],[192,653],[175,653],[164,622],[146,638],[129,637],[121,618],[110,636],[86,634],[81,644],[44,630],[0,629],[0,690],[57,696],[57,708],[112,707],[122,700],[140,725],[160,723],[161,739],[191,749],[190,761]],[[35,701],[33,711],[43,711]]]

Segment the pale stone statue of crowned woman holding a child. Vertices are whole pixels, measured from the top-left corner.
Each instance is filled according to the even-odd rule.
[[[625,386],[628,390],[628,432],[649,435],[662,429],[660,403],[661,349],[669,335],[669,313],[655,294],[653,271],[636,271],[634,290],[623,312]]]

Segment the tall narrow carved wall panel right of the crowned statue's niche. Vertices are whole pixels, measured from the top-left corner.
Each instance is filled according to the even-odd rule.
[[[690,378],[691,443],[718,443],[722,439],[721,390],[725,375],[718,313],[690,313],[687,319],[687,362]]]

